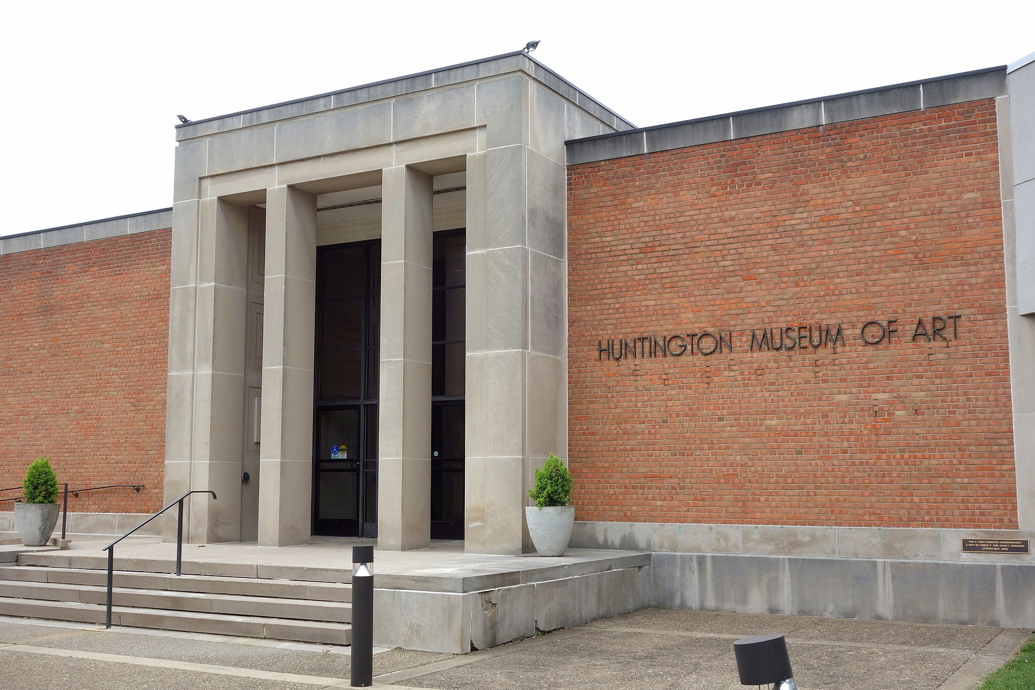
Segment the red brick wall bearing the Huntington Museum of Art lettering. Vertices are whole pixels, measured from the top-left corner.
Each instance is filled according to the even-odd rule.
[[[570,167],[578,519],[1016,528],[997,147],[981,100]],[[599,359],[706,330],[734,351]]]

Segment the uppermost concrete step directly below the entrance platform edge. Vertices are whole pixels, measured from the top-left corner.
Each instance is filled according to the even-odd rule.
[[[51,568],[18,566],[0,568],[0,581],[19,580],[77,586],[108,586],[108,572],[88,568]],[[347,582],[309,582],[304,580],[224,577],[219,575],[170,575],[115,571],[116,588],[201,592],[238,596],[305,599],[308,601],[351,602],[352,584]]]

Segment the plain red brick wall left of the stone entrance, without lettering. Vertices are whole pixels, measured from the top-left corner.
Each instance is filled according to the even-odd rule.
[[[70,488],[147,485],[70,512],[161,507],[169,252],[161,230],[0,257],[0,488],[47,455]]]

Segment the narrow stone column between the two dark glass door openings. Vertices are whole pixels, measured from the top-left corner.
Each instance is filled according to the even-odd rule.
[[[427,548],[432,515],[432,178],[382,181],[378,546]]]

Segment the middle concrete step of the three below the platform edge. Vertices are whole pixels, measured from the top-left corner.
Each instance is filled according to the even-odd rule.
[[[0,580],[0,597],[103,605],[107,596],[105,587]],[[351,605],[330,601],[116,587],[112,591],[112,602],[116,606],[134,608],[256,616],[290,621],[352,622]]]

